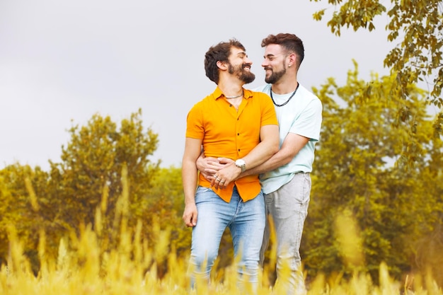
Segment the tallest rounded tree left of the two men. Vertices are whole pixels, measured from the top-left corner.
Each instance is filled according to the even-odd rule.
[[[119,216],[117,199],[122,196],[122,169],[127,168],[130,225],[143,218],[152,178],[159,162],[149,160],[157,148],[157,134],[145,130],[140,116],[133,113],[120,129],[109,116],[93,115],[84,127],[71,127],[71,141],[62,147],[62,162],[51,163],[50,185],[59,224],[71,231],[79,224],[92,224],[96,210],[103,216],[105,231],[111,233]],[[117,223],[118,224],[118,223]]]

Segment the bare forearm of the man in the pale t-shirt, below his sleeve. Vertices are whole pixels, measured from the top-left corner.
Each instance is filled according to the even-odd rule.
[[[309,138],[302,137],[299,134],[289,133],[284,138],[282,147],[269,160],[262,163],[260,166],[255,166],[251,170],[246,170],[240,176],[265,173],[280,166],[289,163],[294,156],[299,154],[299,151],[308,143]]]

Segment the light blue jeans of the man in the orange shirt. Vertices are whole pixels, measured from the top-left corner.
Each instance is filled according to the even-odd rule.
[[[226,227],[229,227],[238,261],[238,284],[248,279],[255,289],[258,284],[258,262],[265,230],[265,201],[263,192],[243,202],[236,187],[231,201],[224,202],[214,191],[198,187],[195,194],[197,225],[192,229],[190,267],[191,284],[200,277],[209,282],[209,274],[219,253],[219,245]]]

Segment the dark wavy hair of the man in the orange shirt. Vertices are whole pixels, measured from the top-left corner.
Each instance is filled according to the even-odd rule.
[[[231,39],[228,42],[219,42],[219,44],[211,46],[205,54],[206,76],[217,85],[219,84],[219,67],[217,66],[217,62],[229,62],[232,47],[245,50],[241,42],[236,39]]]

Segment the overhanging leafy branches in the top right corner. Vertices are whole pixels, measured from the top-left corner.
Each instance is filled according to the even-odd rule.
[[[321,2],[322,0],[310,0]],[[425,98],[437,108],[442,108],[443,87],[443,2],[441,0],[328,0],[335,9],[328,21],[332,33],[340,35],[343,28],[352,27],[372,31],[375,29],[374,18],[385,15],[389,20],[386,30],[388,41],[397,42],[391,52],[386,54],[384,66],[391,69],[393,87],[399,88],[398,96],[409,100],[410,85],[419,81],[427,83],[430,89]],[[328,7],[329,8],[329,7]],[[313,14],[320,21],[328,8]],[[371,96],[371,86],[366,87]],[[403,110],[398,110],[401,116]],[[402,116],[401,116],[402,117]],[[443,112],[435,117],[435,136],[443,132]],[[408,157],[416,155],[404,154]]]

